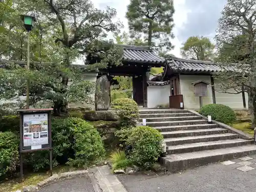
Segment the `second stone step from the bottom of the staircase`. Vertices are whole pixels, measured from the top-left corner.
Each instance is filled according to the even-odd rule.
[[[166,152],[168,154],[180,154],[197,152],[203,150],[216,150],[217,148],[227,148],[233,146],[241,146],[246,144],[251,144],[252,141],[245,139],[230,139],[230,140],[220,140],[220,141],[208,141],[200,143],[189,143],[183,145],[173,145],[167,146]]]

